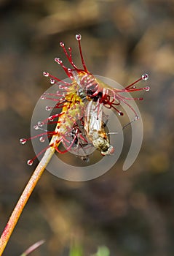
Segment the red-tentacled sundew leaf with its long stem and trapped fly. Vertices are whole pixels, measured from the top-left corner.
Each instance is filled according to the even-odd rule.
[[[90,156],[92,157],[92,152],[95,150],[99,151],[104,159],[114,158],[115,146],[111,145],[111,132],[106,129],[109,117],[105,110],[113,110],[122,118],[124,110],[121,107],[125,105],[134,116],[130,123],[139,119],[137,110],[133,108],[131,102],[143,98],[131,97],[130,93],[149,91],[149,86],[137,88],[138,82],[146,81],[149,78],[148,75],[143,74],[141,78],[124,88],[110,86],[88,71],[82,55],[81,39],[81,35],[76,34],[82,68],[74,64],[72,49],[66,48],[64,42],[60,42],[70,67],[66,67],[59,58],[55,58],[55,62],[64,69],[68,80],[60,80],[49,72],[43,73],[50,79],[51,88],[54,86],[55,89],[41,95],[41,101],[50,102],[43,110],[48,113],[48,116],[44,120],[37,120],[33,125],[32,129],[38,134],[31,138],[20,138],[20,143],[25,144],[28,140],[39,139],[39,143],[47,141],[47,146],[37,152],[36,157],[27,161],[28,165],[32,165],[37,157],[40,159],[1,235],[0,255],[4,252],[25,203],[55,152],[58,154],[71,152],[84,162],[90,162]],[[52,125],[55,125],[54,129],[50,129]]]

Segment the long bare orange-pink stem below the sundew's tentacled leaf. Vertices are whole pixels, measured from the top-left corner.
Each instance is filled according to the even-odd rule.
[[[7,242],[9,241],[9,238],[12,235],[12,231],[14,230],[15,225],[17,224],[17,221],[20,218],[20,214],[22,214],[25,204],[27,203],[29,197],[31,196],[31,193],[33,192],[34,187],[36,187],[36,184],[39,181],[39,178],[41,178],[41,175],[44,172],[45,167],[50,162],[50,159],[52,158],[52,155],[54,153],[55,153],[55,147],[51,146],[50,148],[47,148],[47,151],[45,151],[45,154],[42,157],[41,161],[39,162],[39,165],[37,165],[36,169],[33,172],[33,175],[29,179],[28,184],[26,184],[25,189],[23,190],[23,193],[20,196],[20,199],[18,200],[14,210],[12,211],[11,217],[9,217],[9,221],[7,222],[7,225],[4,228],[4,231],[1,235],[0,256],[4,252]]]

